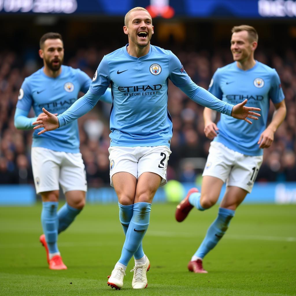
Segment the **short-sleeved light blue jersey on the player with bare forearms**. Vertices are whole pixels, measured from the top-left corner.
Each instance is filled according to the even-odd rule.
[[[266,128],[270,99],[274,104],[284,99],[276,70],[256,61],[254,67],[244,71],[233,62],[216,70],[208,90],[224,102],[238,104],[247,99],[246,106],[261,109],[261,117],[252,124],[221,114],[214,141],[245,155],[262,155],[257,143]]]

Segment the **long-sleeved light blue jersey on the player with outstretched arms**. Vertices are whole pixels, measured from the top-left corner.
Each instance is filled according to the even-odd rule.
[[[137,58],[128,54],[127,46],[104,56],[87,94],[58,116],[60,126],[88,112],[110,83],[111,146],[170,146],[173,129],[167,109],[168,79],[193,101],[231,114],[233,105],[193,83],[171,51],[150,45],[149,52]]]

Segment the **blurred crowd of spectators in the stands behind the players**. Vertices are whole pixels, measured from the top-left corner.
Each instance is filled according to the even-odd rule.
[[[186,48],[186,47],[185,47]],[[115,49],[115,48],[114,48]],[[114,49],[81,48],[65,59],[65,65],[80,68],[93,76],[104,54]],[[186,72],[198,85],[207,89],[218,67],[232,62],[229,48],[214,52],[186,52],[170,48],[181,60]],[[67,57],[67,54],[66,54]],[[273,145],[264,149],[264,160],[257,181],[296,181],[296,54],[292,48],[276,54],[260,47],[255,59],[276,68],[286,98],[287,116],[276,131]],[[21,58],[11,51],[0,51],[0,183],[33,184],[30,164],[32,131],[16,130],[13,124],[20,86],[25,77],[38,68],[34,54]],[[168,165],[168,179],[182,182],[200,180],[208,154],[210,140],[203,132],[203,107],[190,100],[172,83],[169,86],[168,109],[173,119],[172,154]],[[82,94],[81,94],[82,95]],[[109,115],[110,105],[99,102],[79,119],[81,153],[86,166],[89,187],[109,184]],[[271,104],[269,121],[274,108]],[[33,110],[30,117],[34,117]],[[217,117],[218,119],[218,117]]]

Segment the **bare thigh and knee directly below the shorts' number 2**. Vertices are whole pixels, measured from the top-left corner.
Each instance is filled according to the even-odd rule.
[[[156,173],[144,172],[139,176],[136,188],[136,202],[152,203],[155,192],[160,186],[163,177]]]

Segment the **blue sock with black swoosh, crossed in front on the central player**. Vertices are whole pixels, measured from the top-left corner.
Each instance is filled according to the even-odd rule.
[[[119,263],[127,266],[129,260],[139,249],[149,226],[150,211],[151,204],[148,202],[137,202],[133,205],[133,217],[126,232],[126,240],[123,244],[121,257],[118,260]],[[144,252],[141,257],[143,256]]]

